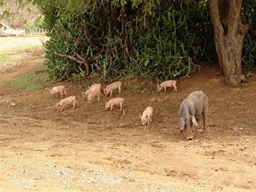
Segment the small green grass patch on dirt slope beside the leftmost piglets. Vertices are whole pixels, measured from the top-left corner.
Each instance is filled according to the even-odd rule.
[[[52,82],[51,78],[49,78],[49,74],[46,72],[40,74],[28,72],[14,79],[11,84],[21,91],[31,91],[33,89],[41,89]]]

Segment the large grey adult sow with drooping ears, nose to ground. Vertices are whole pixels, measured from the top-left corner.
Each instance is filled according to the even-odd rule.
[[[182,105],[180,105],[179,129],[184,133],[186,139],[193,139],[197,132],[197,121],[202,117],[204,133],[206,132],[206,120],[208,114],[208,97],[202,91],[190,93]],[[193,130],[192,126],[196,126]]]

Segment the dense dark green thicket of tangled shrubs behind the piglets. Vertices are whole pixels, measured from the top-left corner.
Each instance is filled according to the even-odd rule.
[[[51,76],[188,76],[216,61],[207,0],[35,0],[45,16]],[[255,65],[256,3],[244,0],[242,20],[251,26],[242,64]]]

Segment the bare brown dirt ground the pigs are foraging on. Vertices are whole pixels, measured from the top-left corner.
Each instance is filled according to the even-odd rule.
[[[57,113],[60,99],[47,90],[10,85],[37,68],[39,55],[28,51],[17,68],[0,72],[0,191],[255,191],[256,76],[232,88],[207,66],[179,79],[177,93],[126,80],[124,117],[118,107],[104,111],[105,97],[83,101],[86,80],[58,82],[79,107]],[[192,91],[209,97],[208,131],[202,134],[200,121],[196,137],[186,141],[178,110]],[[141,126],[148,105],[153,122]]]

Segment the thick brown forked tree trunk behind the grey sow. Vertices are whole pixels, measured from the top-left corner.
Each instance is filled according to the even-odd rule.
[[[209,1],[219,66],[224,76],[242,74],[242,43],[249,30],[241,22],[242,0]]]

